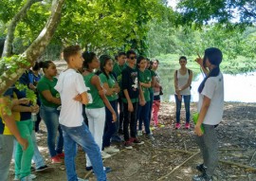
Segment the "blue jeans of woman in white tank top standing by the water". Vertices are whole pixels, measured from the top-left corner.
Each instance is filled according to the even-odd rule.
[[[181,95],[181,100],[178,100],[177,95],[175,96],[175,102],[176,102],[176,123],[180,122],[180,109],[181,109],[181,101],[182,98],[185,103],[185,110],[186,110],[186,122],[189,123],[191,119],[191,112],[190,112],[190,107],[191,107],[191,95],[183,96]]]

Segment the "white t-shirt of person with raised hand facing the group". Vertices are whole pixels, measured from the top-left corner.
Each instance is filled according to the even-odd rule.
[[[210,99],[210,106],[208,108],[206,117],[203,123],[209,125],[219,124],[223,116],[224,107],[224,82],[223,75],[220,72],[217,77],[210,77],[205,82],[205,87],[201,94],[199,94],[199,101],[197,104],[198,113],[201,110],[204,96]]]

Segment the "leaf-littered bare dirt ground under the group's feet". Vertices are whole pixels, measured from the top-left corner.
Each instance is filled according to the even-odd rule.
[[[193,103],[192,112],[195,111],[195,108],[196,105]],[[104,165],[113,170],[107,174],[110,181],[192,180],[192,175],[198,173],[194,168],[202,161],[201,155],[196,154],[198,147],[194,141],[193,125],[189,131],[174,130],[174,110],[174,103],[162,103],[159,120],[165,127],[154,131],[154,142],[141,136],[145,144],[135,146],[133,150],[125,150],[122,144],[117,145],[121,150],[119,154],[104,160]],[[231,164],[220,161],[214,180],[256,180],[255,113],[255,103],[225,103],[224,118],[220,126],[217,127],[219,159],[229,161]],[[182,121],[184,121],[184,115],[183,111],[181,113]],[[41,128],[46,130],[44,123],[41,123]],[[49,162],[46,134],[38,136],[37,139],[47,165],[54,170],[44,173],[33,172],[37,175],[35,180],[66,180],[64,164],[52,165]],[[76,161],[80,177],[89,178],[90,181],[96,180],[94,174],[85,171],[85,158],[81,150],[78,152]],[[235,163],[248,166],[248,168],[236,166]],[[12,173],[10,180],[12,180],[13,164],[10,172]]]

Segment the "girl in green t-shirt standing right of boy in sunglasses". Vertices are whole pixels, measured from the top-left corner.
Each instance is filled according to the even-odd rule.
[[[137,58],[137,68],[138,68],[138,81],[143,92],[145,104],[141,104],[141,100],[139,99],[139,104],[137,105],[137,119],[138,119],[138,131],[137,136],[142,136],[142,121],[144,122],[146,137],[154,140],[154,136],[152,136],[150,132],[150,119],[149,119],[149,111],[150,111],[150,87],[151,87],[151,72],[146,69],[147,60],[144,57]]]

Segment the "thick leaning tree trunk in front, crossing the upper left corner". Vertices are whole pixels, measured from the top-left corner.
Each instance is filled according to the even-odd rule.
[[[13,66],[18,67],[16,71],[9,68],[0,76],[0,95],[2,95],[15,81],[17,81],[27,68],[29,68],[44,52],[46,45],[49,44],[56,27],[60,23],[63,5],[64,0],[53,0],[51,5],[51,15],[48,18],[46,27],[44,27],[39,36],[27,48],[27,50],[13,62]],[[27,63],[24,63],[24,61]]]

